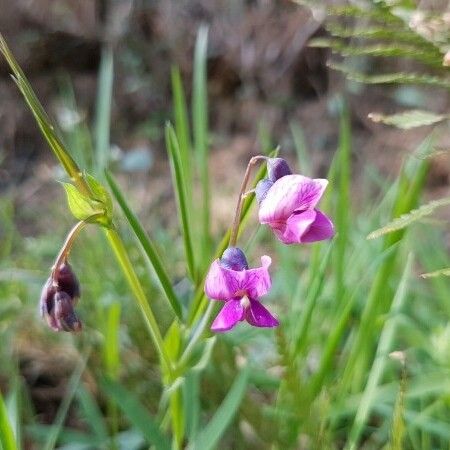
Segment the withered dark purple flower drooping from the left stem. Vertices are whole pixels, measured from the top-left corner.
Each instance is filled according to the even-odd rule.
[[[68,262],[56,267],[42,288],[40,313],[55,331],[81,331],[73,307],[80,297],[80,285]]]

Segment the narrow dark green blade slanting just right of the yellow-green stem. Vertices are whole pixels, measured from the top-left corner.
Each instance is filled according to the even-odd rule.
[[[144,252],[147,255],[148,259],[150,260],[150,263],[156,273],[156,276],[158,277],[159,283],[161,285],[161,288],[167,301],[169,302],[169,305],[173,309],[175,315],[181,320],[182,319],[181,302],[178,299],[177,295],[175,294],[172,283],[170,281],[170,277],[167,273],[166,268],[164,267],[161,257],[159,256],[156,250],[155,244],[148,237],[139,219],[129,207],[125,199],[125,196],[120,190],[118,184],[116,183],[113,176],[109,172],[106,172],[106,180],[114,195],[114,198],[116,199],[117,203],[122,209],[125,217],[128,220],[128,223],[130,224],[130,227],[132,228],[134,234],[136,235],[140,244],[142,245],[142,248],[144,249]]]

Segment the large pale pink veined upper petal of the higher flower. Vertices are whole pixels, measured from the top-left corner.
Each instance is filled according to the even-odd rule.
[[[259,207],[261,223],[286,221],[295,210],[313,209],[323,195],[328,181],[302,175],[286,175],[267,192]]]

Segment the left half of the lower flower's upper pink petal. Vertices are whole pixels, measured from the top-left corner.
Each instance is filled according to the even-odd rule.
[[[243,271],[242,271],[243,272]],[[213,300],[229,300],[239,290],[239,271],[225,269],[216,259],[209,269],[205,281],[205,293]]]

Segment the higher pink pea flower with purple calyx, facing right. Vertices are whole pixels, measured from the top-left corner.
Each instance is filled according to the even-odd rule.
[[[284,244],[303,244],[334,236],[331,220],[319,209],[328,181],[292,174],[286,161],[267,161],[268,178],[255,189],[259,221],[268,225]]]

